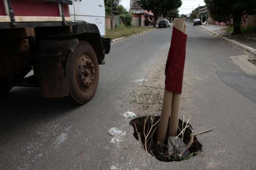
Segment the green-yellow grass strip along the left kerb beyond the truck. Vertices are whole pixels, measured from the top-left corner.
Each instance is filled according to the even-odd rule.
[[[111,38],[111,40],[121,37],[130,36],[132,34],[136,34],[143,31],[151,30],[152,28],[145,28],[145,27],[120,27],[114,28],[113,30],[107,29],[105,38]]]

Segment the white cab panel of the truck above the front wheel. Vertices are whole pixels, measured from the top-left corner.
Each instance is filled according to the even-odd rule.
[[[75,21],[96,24],[101,36],[105,36],[104,0],[73,0]]]

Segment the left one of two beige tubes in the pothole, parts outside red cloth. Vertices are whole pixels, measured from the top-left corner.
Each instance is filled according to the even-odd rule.
[[[181,19],[174,19],[173,26],[177,28],[178,30],[183,31],[184,30],[184,23],[186,18]],[[165,137],[167,133],[167,126],[169,121],[169,116],[171,113],[171,105],[172,105],[172,99],[173,99],[173,93],[171,91],[165,90],[163,93],[163,105],[162,105],[162,111],[161,111],[161,117],[158,127],[158,133],[157,133],[157,141],[160,143],[165,143]],[[175,100],[176,97],[175,97]]]

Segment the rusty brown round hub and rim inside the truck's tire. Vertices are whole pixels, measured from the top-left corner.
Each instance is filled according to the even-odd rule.
[[[77,83],[80,89],[84,91],[88,90],[91,84],[93,84],[96,75],[95,65],[91,58],[86,54],[82,54],[77,60],[75,71]]]

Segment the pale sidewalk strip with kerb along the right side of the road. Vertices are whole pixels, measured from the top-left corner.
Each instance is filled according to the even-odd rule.
[[[235,45],[238,45],[239,47],[242,47],[254,54],[256,54],[256,35],[254,36],[248,36],[247,34],[241,34],[241,35],[231,35],[229,32],[226,32],[225,28],[223,26],[216,26],[212,24],[202,25],[200,28],[206,30],[210,34],[214,34],[216,36],[219,36],[220,38],[233,43]]]

